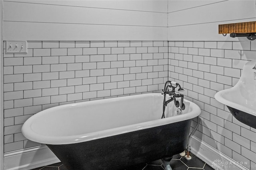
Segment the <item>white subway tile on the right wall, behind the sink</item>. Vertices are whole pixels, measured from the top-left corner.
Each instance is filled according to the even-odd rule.
[[[254,167],[256,129],[237,121],[226,106],[214,99],[214,94],[236,84],[247,60],[255,60],[256,43],[169,41],[168,44],[169,80],[182,84],[186,99],[202,109],[201,123],[194,135],[244,163],[246,168]],[[196,121],[192,121],[192,129]]]

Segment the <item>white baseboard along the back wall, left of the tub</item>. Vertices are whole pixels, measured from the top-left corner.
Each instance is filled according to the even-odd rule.
[[[46,145],[4,154],[4,170],[31,170],[58,162]]]

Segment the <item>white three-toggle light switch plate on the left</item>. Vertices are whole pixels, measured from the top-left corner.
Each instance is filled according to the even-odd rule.
[[[27,41],[6,41],[6,53],[28,53]]]

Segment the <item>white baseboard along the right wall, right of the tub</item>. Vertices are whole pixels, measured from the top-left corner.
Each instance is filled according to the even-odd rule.
[[[193,135],[190,139],[189,145],[191,147],[191,152],[206,164],[214,166],[214,161],[217,162],[218,164],[213,167],[215,170],[249,170],[239,162],[236,162],[232,158],[226,156]]]

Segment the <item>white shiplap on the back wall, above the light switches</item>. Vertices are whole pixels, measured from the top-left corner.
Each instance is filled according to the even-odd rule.
[[[4,40],[167,40],[167,0],[4,0]]]

